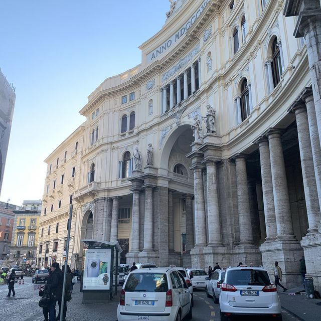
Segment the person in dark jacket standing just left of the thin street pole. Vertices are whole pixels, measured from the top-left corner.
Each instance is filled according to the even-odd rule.
[[[51,274],[46,285],[46,291],[50,295],[49,321],[56,321],[56,302],[61,300],[63,274],[57,262],[52,263],[50,270]]]

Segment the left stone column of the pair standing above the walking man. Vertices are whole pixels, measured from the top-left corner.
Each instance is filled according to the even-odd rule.
[[[264,217],[266,228],[266,241],[272,241],[276,237],[276,222],[274,210],[273,184],[270,161],[270,149],[267,138],[257,141],[260,150],[261,178],[263,190]]]

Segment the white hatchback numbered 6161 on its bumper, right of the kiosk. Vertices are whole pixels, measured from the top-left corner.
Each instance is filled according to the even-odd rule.
[[[176,269],[136,269],[128,274],[120,293],[118,321],[181,321],[184,317],[192,318],[192,296]]]

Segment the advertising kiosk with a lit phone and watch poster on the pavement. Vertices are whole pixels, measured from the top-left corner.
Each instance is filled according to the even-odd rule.
[[[82,240],[88,245],[82,279],[82,303],[105,303],[117,293],[117,273],[113,291],[113,266],[118,271],[119,243],[101,240]]]

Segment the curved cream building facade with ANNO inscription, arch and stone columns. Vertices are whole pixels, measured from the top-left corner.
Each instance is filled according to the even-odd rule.
[[[46,159],[38,263],[62,262],[72,195],[72,267],[93,238],[127,263],[277,260],[287,287],[304,254],[319,285],[320,4],[302,19],[302,3],[177,1]]]

